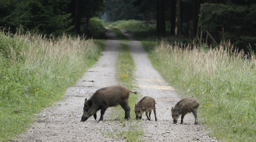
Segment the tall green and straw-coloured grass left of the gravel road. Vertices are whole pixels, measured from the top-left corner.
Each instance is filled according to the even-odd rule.
[[[59,100],[100,55],[92,40],[67,35],[0,32],[0,141],[32,123],[34,113]]]

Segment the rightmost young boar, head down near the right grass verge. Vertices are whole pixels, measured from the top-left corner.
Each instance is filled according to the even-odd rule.
[[[174,106],[174,108],[171,107],[171,116],[173,119],[173,124],[177,123],[180,115],[181,115],[181,124],[182,124],[184,116],[190,112],[192,112],[195,115],[195,124],[197,124],[198,123],[197,122],[197,108],[199,105],[200,104],[193,98],[186,98],[186,99],[180,100]]]

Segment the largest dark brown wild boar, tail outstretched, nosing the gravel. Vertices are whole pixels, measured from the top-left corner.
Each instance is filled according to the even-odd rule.
[[[113,85],[104,87],[97,90],[89,99],[85,99],[84,113],[81,122],[86,121],[90,116],[93,115],[96,120],[96,112],[100,110],[100,119],[98,122],[103,120],[104,112],[108,107],[121,105],[125,111],[125,119],[130,119],[130,107],[128,105],[128,99],[130,95],[128,88],[122,85]],[[132,92],[137,94],[137,92]]]

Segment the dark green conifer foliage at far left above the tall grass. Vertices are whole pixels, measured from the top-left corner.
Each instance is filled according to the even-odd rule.
[[[21,28],[44,34],[69,32],[70,14],[66,13],[69,0],[11,0],[0,5],[0,25],[11,31]]]

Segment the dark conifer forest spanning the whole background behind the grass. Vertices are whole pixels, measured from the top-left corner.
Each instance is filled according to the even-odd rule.
[[[91,37],[93,17],[153,25],[149,36],[217,45],[231,40],[246,53],[256,50],[255,0],[0,0],[0,27],[6,32]]]

